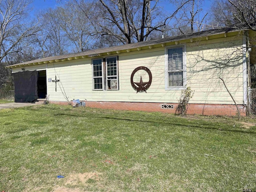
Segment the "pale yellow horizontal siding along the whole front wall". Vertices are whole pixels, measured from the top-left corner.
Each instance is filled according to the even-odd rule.
[[[186,44],[187,85],[194,90],[190,103],[233,104],[219,77],[224,79],[238,104],[243,103],[243,55],[239,46],[242,38],[234,37]],[[160,47],[118,54],[120,89],[108,91],[92,90],[92,58],[48,63],[47,79],[54,80],[56,76],[60,80],[57,92],[55,83],[48,82],[48,95],[52,101],[177,102],[181,90],[165,90],[164,53],[165,48]],[[138,66],[146,66],[152,72],[147,93],[136,93],[130,84],[132,71]],[[26,70],[32,68],[26,67]],[[136,81],[140,75],[147,80],[141,71],[136,74]]]

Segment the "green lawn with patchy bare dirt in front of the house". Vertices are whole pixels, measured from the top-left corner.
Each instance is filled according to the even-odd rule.
[[[59,187],[256,190],[256,126],[228,117],[52,104],[0,110],[0,191]]]

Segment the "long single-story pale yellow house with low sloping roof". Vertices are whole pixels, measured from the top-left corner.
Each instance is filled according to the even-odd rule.
[[[174,113],[181,91],[190,86],[189,114],[236,115],[222,78],[245,115],[255,37],[248,28],[226,27],[6,68],[14,73],[16,102],[80,99],[90,107]]]

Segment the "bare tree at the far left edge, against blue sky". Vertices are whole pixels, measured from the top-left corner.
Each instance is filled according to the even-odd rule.
[[[0,82],[12,82],[11,72],[4,69],[14,64],[12,56],[24,50],[38,31],[38,21],[30,20],[30,0],[0,0]],[[2,85],[2,84],[1,84]]]

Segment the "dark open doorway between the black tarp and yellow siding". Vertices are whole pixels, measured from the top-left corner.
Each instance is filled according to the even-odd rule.
[[[38,71],[37,92],[38,99],[45,99],[47,97],[46,70]]]

